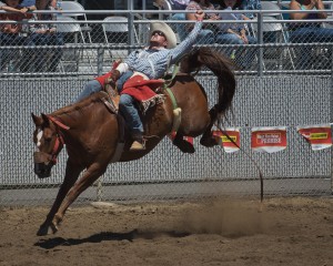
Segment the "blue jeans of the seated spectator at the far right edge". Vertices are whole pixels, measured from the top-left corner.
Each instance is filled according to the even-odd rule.
[[[292,43],[333,42],[333,29],[327,28],[299,28],[290,34]],[[300,54],[295,62],[297,69],[306,69],[311,65],[311,45],[297,47]]]

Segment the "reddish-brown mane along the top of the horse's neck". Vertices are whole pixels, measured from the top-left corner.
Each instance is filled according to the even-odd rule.
[[[61,108],[61,109],[52,112],[52,115],[60,116],[60,115],[63,115],[63,114],[71,114],[73,112],[81,112],[83,109],[87,109],[91,104],[102,103],[101,99],[105,95],[107,95],[107,93],[103,92],[103,91],[100,91],[98,93],[93,93],[93,94],[91,94],[90,96],[83,99],[80,102],[67,105],[64,108]]]

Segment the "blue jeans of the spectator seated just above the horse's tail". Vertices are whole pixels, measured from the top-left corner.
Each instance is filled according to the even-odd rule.
[[[246,38],[249,40],[249,44],[256,43],[256,39],[254,37],[246,35]],[[233,33],[226,33],[226,32],[220,32],[216,35],[216,42],[221,43],[221,44],[244,44],[244,42],[238,35],[235,35]],[[246,45],[246,44],[244,44],[244,45]],[[235,53],[236,63],[243,69],[249,69],[252,64],[252,61],[255,58],[256,49],[253,51],[252,49],[249,49],[249,48],[234,49],[234,48],[230,47],[230,48],[225,48],[226,55],[231,57],[233,50],[236,50],[236,53]],[[244,52],[243,57],[240,54],[242,52]]]

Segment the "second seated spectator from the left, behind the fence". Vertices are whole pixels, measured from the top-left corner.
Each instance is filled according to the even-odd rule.
[[[49,0],[46,2],[46,7],[41,7],[43,10],[56,10],[57,0]],[[56,13],[38,13],[33,16],[34,20],[56,20]],[[30,28],[30,39],[36,45],[63,45],[63,34],[57,32],[57,27],[52,23],[33,24]],[[47,58],[51,54],[48,65]],[[37,72],[56,72],[59,61],[62,55],[62,49],[47,49],[38,50],[36,52],[36,71]]]

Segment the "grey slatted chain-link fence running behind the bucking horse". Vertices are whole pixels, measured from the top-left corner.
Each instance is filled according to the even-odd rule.
[[[0,204],[50,203],[63,178],[64,152],[52,177],[38,180],[34,176],[30,113],[50,113],[72,103],[88,80],[108,71],[114,59],[125,58],[148,42],[148,20],[135,19],[133,24],[128,24],[128,18],[108,22],[64,20],[60,18],[52,24],[57,29],[77,28],[73,32],[58,32],[61,34],[57,38],[61,35],[62,44],[1,42]],[[269,24],[275,23],[272,21]],[[169,22],[176,32],[176,25],[182,24]],[[108,32],[107,28],[111,25],[118,31]],[[258,29],[264,33],[260,30],[263,25]],[[286,29],[284,23],[283,30]],[[286,32],[279,34],[283,37]],[[29,32],[22,35],[30,38]],[[290,37],[279,39],[275,33],[272,42],[260,39],[256,44],[246,45],[208,44],[221,51],[232,48],[230,57],[234,52],[233,60],[238,64],[242,63],[242,53],[249,48],[254,54],[249,68],[236,71],[234,120],[229,125],[241,127],[241,145],[262,170],[266,195],[327,195],[331,193],[331,150],[313,152],[295,126],[331,122],[333,73],[329,59],[332,43],[291,43]],[[306,69],[301,69],[302,64],[296,63],[301,48],[307,49],[307,53],[313,50],[313,59],[317,62],[307,62]],[[43,60],[40,60],[41,55]],[[322,55],[327,60],[321,61]],[[215,78],[202,72],[198,80],[206,89],[210,102],[214,102]],[[251,127],[276,125],[287,126],[286,150],[274,154],[252,152]],[[221,147],[204,149],[198,140],[194,146],[193,155],[182,154],[165,139],[140,161],[110,165],[99,183],[102,188],[90,187],[79,201],[150,201],[259,193],[258,170],[245,153],[226,154]]]

